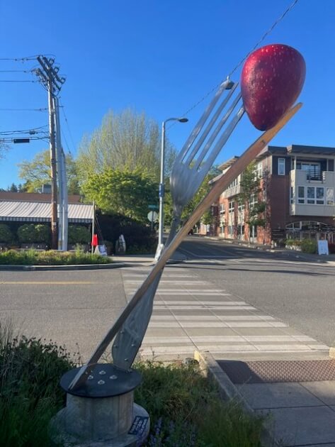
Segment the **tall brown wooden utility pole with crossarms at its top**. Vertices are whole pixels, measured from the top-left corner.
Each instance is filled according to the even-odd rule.
[[[56,157],[56,140],[55,133],[55,93],[58,93],[64,84],[64,77],[58,76],[59,67],[54,67],[55,60],[47,59],[45,56],[38,56],[37,60],[41,68],[35,71],[40,81],[47,89],[47,98],[49,104],[49,132],[50,132],[50,167],[51,167],[51,248],[58,248],[58,231],[57,231],[57,157]],[[59,133],[59,126],[56,129]]]

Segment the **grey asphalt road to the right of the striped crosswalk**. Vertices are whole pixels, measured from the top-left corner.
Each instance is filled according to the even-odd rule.
[[[188,268],[203,279],[335,346],[335,262],[297,253],[269,253],[222,241],[188,237]]]

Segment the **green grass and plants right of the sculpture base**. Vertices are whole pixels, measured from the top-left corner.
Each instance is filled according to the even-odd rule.
[[[136,368],[143,382],[135,402],[147,409],[152,424],[146,446],[261,446],[263,418],[246,414],[238,402],[223,402],[197,363],[149,362]]]

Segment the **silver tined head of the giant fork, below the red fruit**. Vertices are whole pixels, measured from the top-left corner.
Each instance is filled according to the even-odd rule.
[[[233,98],[236,88],[237,83],[228,78],[222,82],[203,116],[178,153],[170,177],[175,216],[181,215],[183,207],[198,191],[215,158],[244,114],[244,108],[241,106],[225,130],[222,131],[241,99],[241,94],[237,94]],[[215,128],[213,128],[214,126]],[[203,132],[200,133],[202,130]]]

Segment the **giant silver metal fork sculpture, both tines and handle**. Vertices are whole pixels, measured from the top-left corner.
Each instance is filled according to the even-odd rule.
[[[244,114],[244,108],[242,106],[239,108],[234,118],[232,118],[232,121],[230,121],[229,126],[227,126],[224,133],[222,133],[222,136],[220,136],[215,143],[222,127],[227,122],[241,98],[241,94],[238,94],[227,111],[225,111],[225,107],[229,104],[229,99],[232,98],[236,88],[237,83],[234,84],[234,82],[229,79],[222,82],[217,93],[207,109],[205,109],[203,116],[201,116],[174,162],[170,182],[171,196],[173,200],[173,219],[166,245],[169,245],[174,236],[176,236],[184,206],[190,202],[198,191],[200,184],[208,174],[215,158],[217,158],[218,153],[223,145],[225,145],[230,134]],[[225,96],[220,103],[222,95],[227,90],[229,91],[227,96]],[[215,106],[217,106],[216,109]],[[207,126],[205,127],[206,123]],[[217,126],[212,131],[215,123],[217,123]],[[200,135],[202,130],[203,133]],[[211,131],[212,133],[210,133]],[[206,140],[206,138],[208,139]],[[205,160],[207,155],[208,158]],[[113,364],[118,368],[127,370],[135,360],[152,315],[154,295],[157,291],[163,270],[164,269],[159,272],[159,275],[157,275],[152,285],[142,297],[141,302],[137,304],[130,316],[128,316],[122,329],[115,337],[112,347],[112,356]]]

